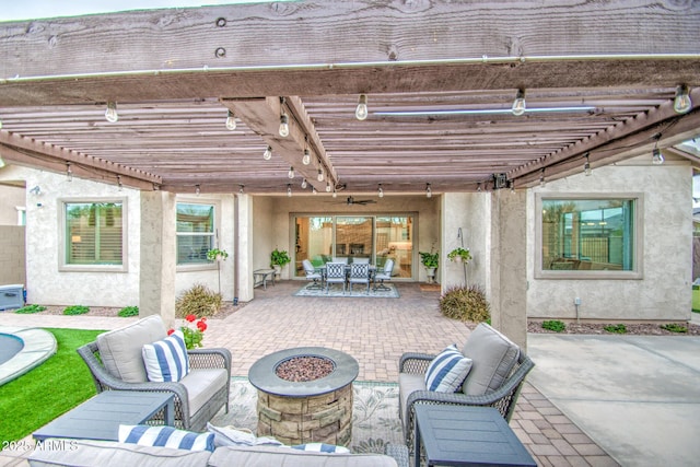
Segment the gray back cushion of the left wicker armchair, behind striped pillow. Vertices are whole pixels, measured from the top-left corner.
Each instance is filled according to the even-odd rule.
[[[113,376],[127,383],[143,383],[148,377],[141,349],[145,343],[166,337],[167,331],[161,316],[148,316],[97,336],[100,358]]]

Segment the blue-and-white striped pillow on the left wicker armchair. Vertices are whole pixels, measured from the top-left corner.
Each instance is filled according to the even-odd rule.
[[[189,373],[185,335],[176,330],[163,340],[147,343],[142,349],[149,381],[180,381]]]

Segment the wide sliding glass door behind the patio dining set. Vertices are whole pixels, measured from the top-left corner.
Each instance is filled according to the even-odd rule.
[[[303,277],[304,259],[318,267],[334,257],[369,258],[383,268],[394,260],[394,277],[412,278],[413,217],[412,215],[337,215],[294,218],[295,276]]]

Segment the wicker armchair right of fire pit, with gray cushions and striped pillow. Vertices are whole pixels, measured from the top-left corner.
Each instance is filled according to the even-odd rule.
[[[471,331],[464,348],[439,355],[404,353],[399,360],[399,418],[413,446],[417,404],[488,406],[511,420],[525,376],[535,363],[508,337],[486,323]]]

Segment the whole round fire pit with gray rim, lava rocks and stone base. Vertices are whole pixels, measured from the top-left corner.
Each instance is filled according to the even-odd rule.
[[[258,436],[284,444],[348,445],[352,437],[352,382],[360,365],[323,347],[299,347],[262,357],[248,371],[258,389]]]

